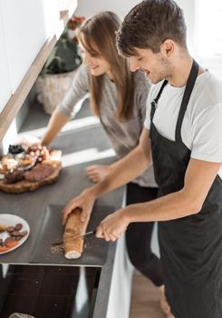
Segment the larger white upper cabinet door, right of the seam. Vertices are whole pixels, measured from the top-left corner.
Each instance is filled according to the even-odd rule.
[[[14,93],[58,21],[58,1],[0,0],[0,5]]]

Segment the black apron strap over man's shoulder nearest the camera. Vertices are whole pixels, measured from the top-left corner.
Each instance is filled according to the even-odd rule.
[[[176,126],[176,132],[175,132],[175,140],[176,142],[182,142],[181,138],[181,126],[184,118],[184,114],[186,112],[187,106],[188,106],[188,101],[189,97],[193,91],[194,84],[196,82],[196,79],[198,77],[198,63],[193,60],[193,65],[190,70],[190,73],[188,75],[188,82],[185,88],[185,92],[183,94],[183,99],[180,105],[179,109],[179,117],[178,117],[178,122]]]

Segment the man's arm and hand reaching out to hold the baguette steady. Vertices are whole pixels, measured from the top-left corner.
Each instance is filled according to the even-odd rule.
[[[107,194],[123,184],[127,184],[140,175],[151,164],[151,148],[149,131],[143,129],[139,145],[130,154],[111,164],[111,173],[100,183],[84,190],[82,194],[73,198],[63,209],[63,224],[68,214],[75,207],[82,208],[82,221],[92,212],[92,205],[101,194]]]

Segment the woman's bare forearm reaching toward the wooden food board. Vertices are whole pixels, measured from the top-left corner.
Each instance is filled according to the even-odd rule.
[[[58,109],[55,109],[50,117],[49,124],[47,125],[46,133],[43,135],[41,144],[50,144],[69,119],[69,116],[66,116]]]

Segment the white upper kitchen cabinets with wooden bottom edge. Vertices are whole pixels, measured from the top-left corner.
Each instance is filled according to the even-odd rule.
[[[0,141],[76,6],[77,0],[0,0]]]

